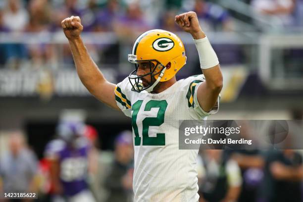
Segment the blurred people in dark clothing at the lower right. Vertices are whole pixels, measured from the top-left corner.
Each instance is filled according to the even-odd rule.
[[[302,202],[302,154],[294,150],[205,150],[201,202]]]

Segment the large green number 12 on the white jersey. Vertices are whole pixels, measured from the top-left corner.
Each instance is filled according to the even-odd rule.
[[[137,126],[137,115],[142,105],[142,100],[136,101],[132,105],[132,126],[135,133],[135,146],[139,146],[141,144],[141,138],[139,137],[139,131]],[[145,146],[163,146],[165,145],[165,133],[157,133],[157,137],[149,137],[149,127],[150,126],[160,126],[164,123],[164,114],[167,107],[167,101],[148,101],[145,105],[144,110],[150,111],[152,108],[158,107],[159,111],[157,117],[146,117],[142,121],[143,130],[142,130],[142,137],[143,137],[143,144]]]

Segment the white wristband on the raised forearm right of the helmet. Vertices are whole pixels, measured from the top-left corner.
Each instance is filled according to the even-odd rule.
[[[201,69],[208,69],[219,64],[217,54],[206,36],[203,39],[194,39],[194,42],[199,53]]]

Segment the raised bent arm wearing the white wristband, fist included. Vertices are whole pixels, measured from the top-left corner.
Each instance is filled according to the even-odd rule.
[[[202,72],[205,76],[205,82],[198,88],[197,98],[202,109],[209,112],[215,106],[223,87],[223,76],[218,58],[202,31],[195,12],[177,15],[175,21],[185,32],[193,36],[197,46]]]

